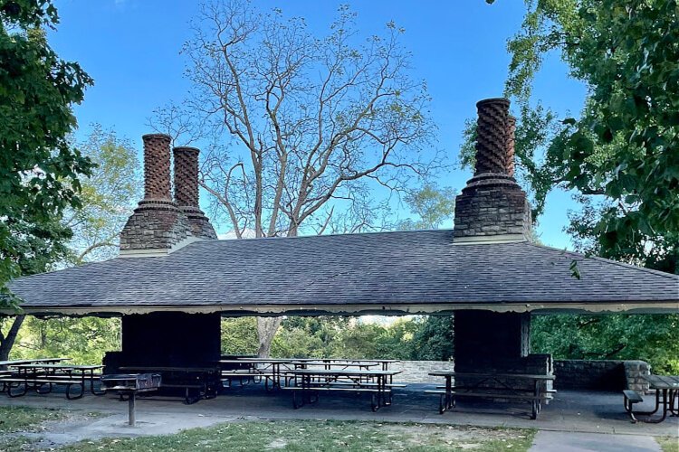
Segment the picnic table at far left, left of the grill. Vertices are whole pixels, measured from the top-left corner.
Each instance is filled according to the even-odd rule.
[[[66,398],[68,400],[80,399],[85,394],[85,381],[90,381],[90,391],[94,395],[102,395],[102,391],[95,391],[94,379],[96,371],[104,366],[94,365],[75,365],[75,364],[54,364],[54,363],[32,363],[32,364],[11,364],[9,367],[14,372],[9,378],[3,378],[9,397],[20,397],[26,394],[29,388],[33,388],[39,394],[52,392],[53,385],[66,386]],[[98,376],[98,375],[97,375]],[[23,385],[23,391],[13,393],[14,387]],[[44,387],[47,390],[44,390]],[[80,387],[80,391],[72,396],[72,386]]]

